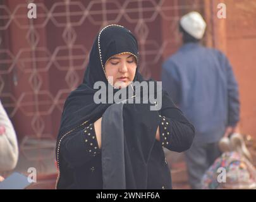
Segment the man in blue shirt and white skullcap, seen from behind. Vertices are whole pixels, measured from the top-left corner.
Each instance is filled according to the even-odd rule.
[[[205,21],[197,12],[180,20],[183,46],[162,66],[162,86],[195,126],[185,152],[192,189],[200,189],[204,172],[219,157],[218,142],[233,133],[240,116],[238,84],[221,51],[200,45]]]

